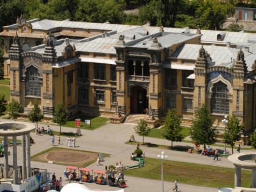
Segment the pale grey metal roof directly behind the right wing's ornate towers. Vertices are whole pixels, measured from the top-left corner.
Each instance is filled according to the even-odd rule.
[[[172,58],[177,59],[188,59],[196,60],[199,54],[199,49],[201,48],[200,44],[182,44],[172,55]],[[210,66],[222,65],[230,67],[233,63],[233,60],[236,60],[237,53],[239,49],[227,48],[223,46],[204,46],[205,51],[210,54],[212,62],[209,63]],[[256,59],[256,54],[251,52],[244,51],[244,60],[246,61],[248,71],[252,70],[252,64]]]

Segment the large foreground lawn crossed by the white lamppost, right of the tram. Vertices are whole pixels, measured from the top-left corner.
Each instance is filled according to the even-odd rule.
[[[145,166],[142,168],[125,170],[124,175],[144,177],[161,180],[161,160],[157,158],[144,158]],[[164,180],[180,183],[201,185],[205,187],[234,187],[235,169],[218,166],[201,165],[196,163],[174,162],[165,160],[163,164]],[[241,186],[251,187],[252,172],[242,169]]]

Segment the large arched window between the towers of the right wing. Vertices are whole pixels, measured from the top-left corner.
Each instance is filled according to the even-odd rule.
[[[227,85],[219,81],[212,88],[212,113],[229,114],[229,90]]]

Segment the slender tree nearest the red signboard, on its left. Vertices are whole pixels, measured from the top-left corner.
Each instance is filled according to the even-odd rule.
[[[63,103],[60,101],[57,104],[52,121],[59,124],[60,133],[62,133],[62,126],[66,124],[66,121],[68,121],[68,109],[66,109]]]

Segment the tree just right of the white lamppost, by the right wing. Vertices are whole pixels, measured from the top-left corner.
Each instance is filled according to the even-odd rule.
[[[224,133],[224,142],[232,146],[232,154],[233,154],[233,146],[235,145],[235,141],[239,141],[241,139],[241,134],[244,130],[244,124],[240,124],[240,120],[232,114],[232,116],[228,116],[227,120],[229,122],[226,124],[226,130]]]

